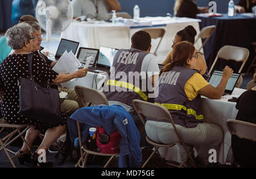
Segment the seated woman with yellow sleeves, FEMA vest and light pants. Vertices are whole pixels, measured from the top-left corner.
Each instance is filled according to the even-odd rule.
[[[208,164],[209,149],[217,149],[222,141],[223,132],[217,124],[203,122],[200,110],[201,95],[210,99],[220,99],[233,70],[225,67],[220,84],[210,85],[195,69],[197,55],[195,47],[188,41],[177,43],[172,51],[172,63],[164,66],[159,74],[158,97],[155,103],[166,107],[180,132],[184,143],[199,147],[198,159]],[[221,110],[221,109],[220,109]],[[178,141],[172,124],[147,119],[147,136],[160,143],[170,144]],[[179,146],[183,157],[187,155]],[[189,165],[189,163],[187,164]]]

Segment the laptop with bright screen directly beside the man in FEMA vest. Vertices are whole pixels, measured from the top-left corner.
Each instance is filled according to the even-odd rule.
[[[117,52],[117,48],[100,46],[97,62],[94,66],[89,68],[89,72],[110,73],[110,67],[113,64],[114,56]]]

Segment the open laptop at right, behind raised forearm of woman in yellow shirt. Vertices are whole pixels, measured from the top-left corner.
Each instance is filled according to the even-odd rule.
[[[216,87],[220,84],[222,78],[222,71],[214,70],[212,75],[210,76],[209,84]],[[226,84],[226,89],[222,95],[232,94],[238,79],[240,78],[241,73],[232,73],[232,76],[229,78],[228,84]]]

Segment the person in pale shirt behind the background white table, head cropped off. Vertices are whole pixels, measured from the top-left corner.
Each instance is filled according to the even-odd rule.
[[[108,20],[109,12],[121,10],[117,0],[73,0],[74,18],[86,15],[86,18]]]

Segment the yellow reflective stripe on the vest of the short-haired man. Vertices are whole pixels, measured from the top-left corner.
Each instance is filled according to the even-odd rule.
[[[147,101],[147,98],[148,98],[147,95],[143,93],[141,89],[139,89],[137,86],[134,86],[133,84],[129,84],[128,82],[125,82],[125,81],[116,81],[116,80],[109,80],[107,84],[111,86],[119,86],[122,88],[133,90],[135,93],[139,94],[139,96],[142,99]]]

